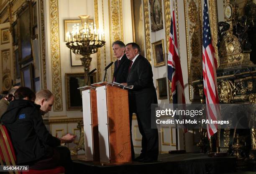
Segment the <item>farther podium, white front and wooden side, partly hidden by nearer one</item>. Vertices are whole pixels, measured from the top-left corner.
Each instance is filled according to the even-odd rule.
[[[100,162],[96,88],[86,86],[83,90],[85,160]]]

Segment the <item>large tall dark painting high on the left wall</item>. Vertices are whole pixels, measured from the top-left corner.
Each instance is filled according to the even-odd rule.
[[[33,59],[31,48],[31,1],[17,12],[18,46],[20,63],[25,64]]]

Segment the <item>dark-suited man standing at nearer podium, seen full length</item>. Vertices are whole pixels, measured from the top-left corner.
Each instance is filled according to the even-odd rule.
[[[157,104],[157,97],[152,68],[148,60],[140,55],[138,44],[128,43],[125,46],[125,54],[131,63],[128,68],[127,83],[123,85],[133,85],[133,89],[128,93],[130,125],[132,114],[136,113],[138,128],[142,135],[141,154],[135,160],[156,161],[159,152],[158,131],[151,129],[151,104]]]

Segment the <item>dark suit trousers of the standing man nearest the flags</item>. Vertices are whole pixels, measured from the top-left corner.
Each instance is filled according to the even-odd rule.
[[[141,141],[141,155],[157,160],[159,146],[158,146],[158,131],[151,129],[151,110],[136,113],[138,128],[142,135]],[[132,121],[132,112],[130,112],[130,127]],[[131,134],[132,137],[132,134]],[[131,138],[132,157],[134,157],[133,142]]]

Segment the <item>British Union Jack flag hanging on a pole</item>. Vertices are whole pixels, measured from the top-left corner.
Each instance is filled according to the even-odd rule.
[[[173,4],[173,3],[172,3]],[[182,104],[185,102],[184,85],[182,70],[179,60],[176,21],[174,14],[174,5],[172,5],[172,19],[169,36],[169,52],[167,60],[168,79],[172,82],[172,100],[173,103]]]

